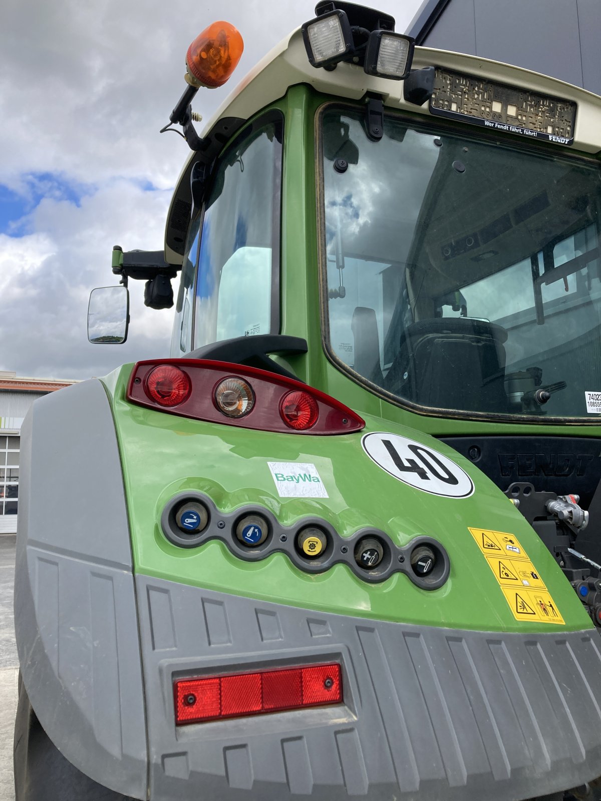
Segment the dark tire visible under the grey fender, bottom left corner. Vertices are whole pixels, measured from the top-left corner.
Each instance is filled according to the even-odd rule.
[[[18,676],[14,722],[15,801],[135,801],[103,787],[63,757],[42,729]]]

